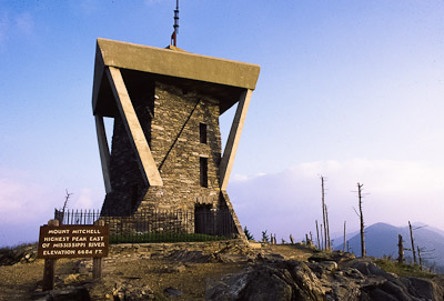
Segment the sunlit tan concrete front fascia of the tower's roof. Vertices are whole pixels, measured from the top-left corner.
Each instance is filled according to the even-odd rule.
[[[253,90],[260,70],[253,63],[108,39],[97,40],[97,51],[104,66]]]

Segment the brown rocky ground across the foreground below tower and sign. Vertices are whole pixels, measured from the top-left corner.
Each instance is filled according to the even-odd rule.
[[[444,300],[442,277],[398,277],[374,259],[297,244],[113,247],[101,280],[91,259],[59,260],[51,292],[34,245],[0,264],[0,300]]]

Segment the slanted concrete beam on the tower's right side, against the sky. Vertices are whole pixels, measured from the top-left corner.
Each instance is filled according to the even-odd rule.
[[[220,183],[221,190],[225,191],[229,184],[231,169],[234,163],[234,157],[238,151],[239,141],[241,139],[243,123],[245,121],[246,111],[249,110],[251,94],[253,90],[246,89],[239,100],[238,109],[231,124],[230,136],[223,151],[223,157],[220,167]]]

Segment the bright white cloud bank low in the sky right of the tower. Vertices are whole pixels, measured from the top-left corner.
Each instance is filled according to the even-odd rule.
[[[418,162],[355,159],[305,162],[262,177],[233,177],[229,194],[242,224],[259,238],[261,231],[287,239],[312,231],[321,221],[321,180],[326,178],[326,204],[331,232],[359,228],[356,184],[364,184],[366,224],[396,225],[423,221],[444,228],[442,199],[444,171]]]

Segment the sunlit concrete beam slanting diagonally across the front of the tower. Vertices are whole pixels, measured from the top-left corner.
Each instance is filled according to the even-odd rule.
[[[127,129],[128,137],[133,146],[135,155],[138,158],[139,169],[142,178],[147,184],[161,187],[163,185],[162,178],[160,177],[158,167],[155,165],[150,147],[148,146],[145,136],[143,134],[142,127],[139,123],[138,116],[130,96],[128,94],[127,87],[123,82],[120,70],[114,67],[107,68],[108,79],[110,80],[111,89],[118,104],[120,116],[123,119],[123,124]]]

